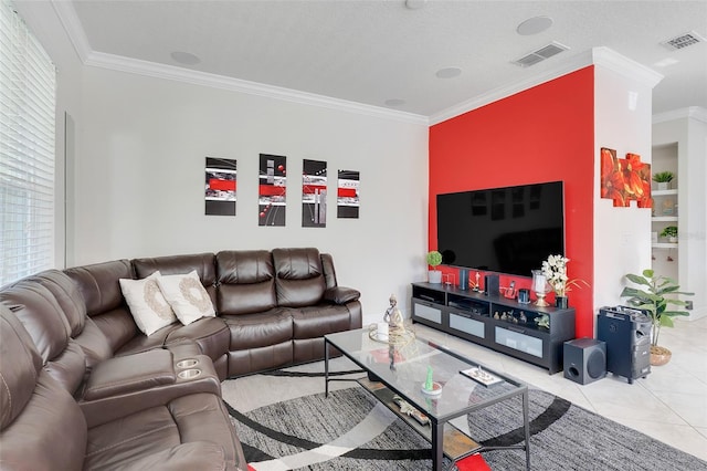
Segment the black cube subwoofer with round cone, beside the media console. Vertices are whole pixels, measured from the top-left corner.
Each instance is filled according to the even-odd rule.
[[[564,343],[564,377],[587,385],[606,376],[606,343],[576,338]]]

